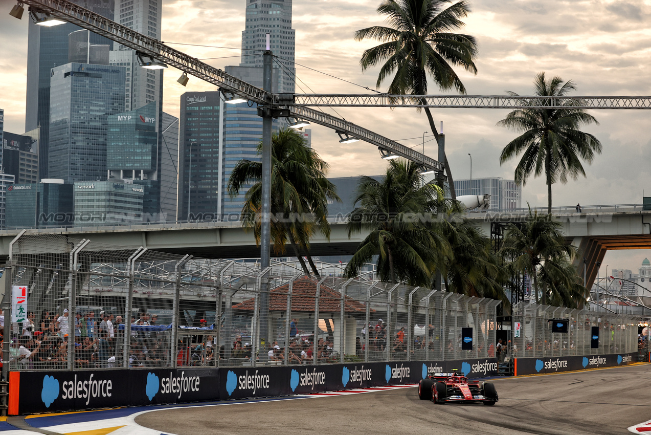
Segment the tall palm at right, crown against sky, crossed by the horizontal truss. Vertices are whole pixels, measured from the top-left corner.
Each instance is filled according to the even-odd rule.
[[[554,97],[567,96],[576,89],[572,81],[562,83],[561,77],[545,78],[540,72],[534,79],[534,95],[552,97],[549,101],[556,108],[527,107],[509,113],[497,125],[505,126],[522,134],[510,141],[502,150],[499,163],[522,154],[516,167],[516,183],[523,186],[527,178],[545,173],[547,184],[547,213],[551,213],[551,185],[566,184],[568,175],[576,180],[585,176],[581,160],[592,163],[594,153],[601,154],[602,144],[594,135],[578,130],[585,124],[599,124],[592,115],[574,107],[572,100],[559,101]],[[515,92],[508,92],[518,96]]]

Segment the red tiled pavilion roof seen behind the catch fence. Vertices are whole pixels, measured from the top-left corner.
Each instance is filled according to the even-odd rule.
[[[316,299],[316,285],[318,281],[304,276],[294,281],[292,286],[292,311],[314,313],[314,300]],[[332,288],[321,285],[319,298],[319,311],[322,313],[339,313],[341,294]],[[287,311],[287,293],[289,284],[276,287],[270,292],[269,310]],[[232,309],[253,311],[255,298],[236,303]],[[366,313],[366,305],[357,302],[350,296],[344,298],[344,311],[346,313]],[[370,310],[374,312],[374,309]]]

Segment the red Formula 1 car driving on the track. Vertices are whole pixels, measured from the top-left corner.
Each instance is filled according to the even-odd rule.
[[[421,400],[434,400],[434,403],[481,402],[484,405],[494,405],[497,402],[497,391],[490,382],[468,380],[456,373],[435,373],[427,376],[418,384],[418,397]]]

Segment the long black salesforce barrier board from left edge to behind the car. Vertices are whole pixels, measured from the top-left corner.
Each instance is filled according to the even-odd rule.
[[[471,378],[495,376],[497,360],[14,372],[13,379],[20,376],[20,388],[18,398],[12,397],[10,400],[14,403],[10,414],[277,397],[415,384],[428,374],[452,369],[458,369]]]

